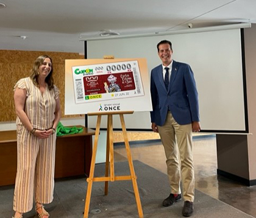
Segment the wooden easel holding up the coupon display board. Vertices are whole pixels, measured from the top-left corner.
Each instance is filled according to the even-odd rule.
[[[118,181],[118,180],[132,180],[133,190],[135,194],[135,199],[137,202],[138,208],[138,215],[140,218],[143,218],[143,211],[140,202],[140,194],[138,192],[138,185],[137,185],[137,177],[135,175],[135,171],[133,168],[132,163],[132,155],[130,153],[130,146],[126,132],[126,125],[124,124],[124,114],[132,114],[133,111],[111,111],[105,113],[88,113],[88,116],[95,116],[97,115],[97,123],[96,123],[96,134],[94,138],[94,146],[93,146],[93,154],[91,156],[91,169],[90,169],[90,176],[87,178],[88,186],[87,186],[87,195],[85,200],[85,211],[84,211],[84,218],[88,218],[90,200],[91,200],[91,188],[93,186],[93,181],[105,181],[105,195],[108,194],[108,181]],[[126,144],[126,152],[127,152],[127,159],[130,167],[130,175],[121,175],[115,176],[114,172],[114,147],[113,147],[113,114],[119,114],[123,135],[124,135],[124,142]],[[93,177],[94,176],[94,168],[95,168],[95,159],[96,159],[96,152],[98,146],[98,139],[99,139],[99,129],[101,125],[101,116],[107,115],[107,153],[106,153],[106,163],[105,163],[105,177]],[[108,175],[109,171],[109,162],[110,162],[110,175]]]

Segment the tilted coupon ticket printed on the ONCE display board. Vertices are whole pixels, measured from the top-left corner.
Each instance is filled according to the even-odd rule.
[[[76,103],[143,96],[138,61],[73,66]]]

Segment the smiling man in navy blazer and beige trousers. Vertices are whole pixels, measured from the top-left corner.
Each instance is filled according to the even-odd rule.
[[[157,49],[162,65],[151,71],[151,127],[160,134],[171,186],[171,194],[163,200],[163,206],[181,200],[182,178],[185,201],[182,214],[187,217],[194,211],[192,132],[201,129],[196,82],[189,65],[172,60],[170,41],[160,41]]]

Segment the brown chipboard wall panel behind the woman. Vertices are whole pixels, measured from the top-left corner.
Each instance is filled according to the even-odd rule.
[[[15,86],[19,79],[30,75],[30,70],[35,59],[43,54],[47,54],[52,58],[55,85],[60,90],[62,117],[70,117],[64,116],[65,60],[84,59],[84,56],[67,52],[0,50],[0,122],[15,121],[13,86]]]

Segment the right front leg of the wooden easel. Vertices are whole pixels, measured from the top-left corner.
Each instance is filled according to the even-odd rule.
[[[135,175],[133,163],[132,163],[132,155],[130,153],[130,146],[129,146],[129,141],[128,141],[128,136],[126,132],[126,125],[124,123],[124,115],[120,114],[120,119],[121,119],[121,125],[122,125],[122,130],[123,130],[123,135],[124,135],[124,143],[126,144],[126,152],[127,152],[127,159],[130,167],[130,175],[132,177],[132,185],[133,185],[133,190],[135,194],[135,199],[137,202],[137,208],[138,208],[138,215],[140,218],[143,218],[143,211],[142,211],[142,206],[140,202],[140,194],[138,192],[138,185],[137,185],[137,178]]]

